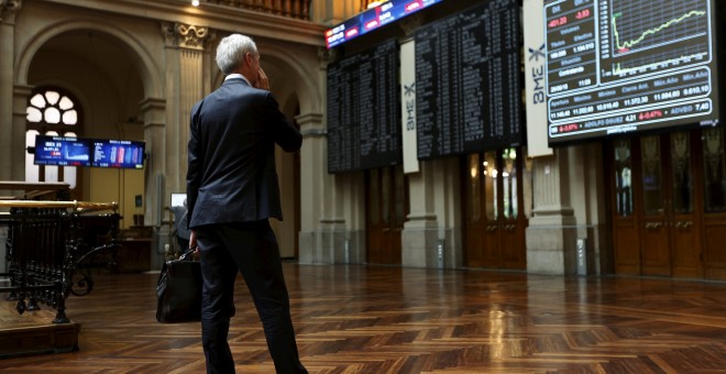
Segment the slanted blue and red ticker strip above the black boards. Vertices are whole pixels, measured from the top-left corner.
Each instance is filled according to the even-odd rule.
[[[389,0],[326,31],[328,48],[341,45],[383,25],[443,0]]]

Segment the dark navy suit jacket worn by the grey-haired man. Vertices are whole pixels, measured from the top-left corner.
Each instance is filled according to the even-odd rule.
[[[300,148],[302,136],[272,92],[232,78],[191,109],[188,226],[283,219],[275,144]]]

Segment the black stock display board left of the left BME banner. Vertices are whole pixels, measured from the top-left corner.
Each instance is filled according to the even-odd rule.
[[[402,162],[395,40],[328,66],[328,173]]]

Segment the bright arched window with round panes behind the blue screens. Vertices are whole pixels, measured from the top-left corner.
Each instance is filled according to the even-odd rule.
[[[40,87],[33,90],[28,101],[25,146],[35,146],[35,136],[61,135],[77,138],[82,132],[82,118],[78,100],[59,88]],[[38,166],[33,163],[33,154],[25,154],[26,182],[59,182],[76,188],[77,173],[75,166]]]

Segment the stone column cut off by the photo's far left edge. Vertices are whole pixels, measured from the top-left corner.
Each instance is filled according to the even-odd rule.
[[[16,174],[12,165],[14,163],[24,164],[25,141],[18,143],[14,127],[14,35],[15,35],[15,14],[21,8],[21,0],[0,1],[0,179],[11,180],[23,178],[24,168],[21,174]],[[25,108],[23,108],[23,113]],[[25,118],[23,117],[22,131],[25,133]]]

